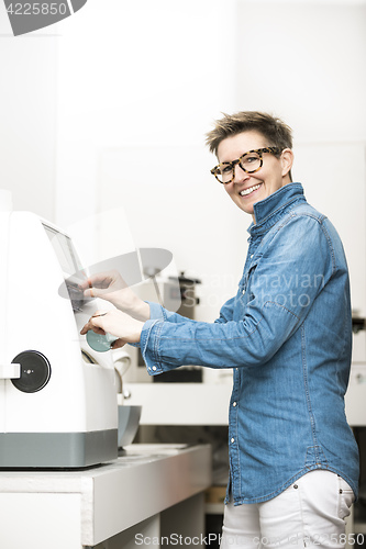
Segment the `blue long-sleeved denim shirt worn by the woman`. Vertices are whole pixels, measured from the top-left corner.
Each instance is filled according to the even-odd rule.
[[[270,500],[317,469],[340,474],[357,495],[358,450],[344,410],[352,318],[341,239],[300,183],[254,213],[237,294],[214,323],[151,303],[141,336],[147,371],[233,369],[226,503]]]

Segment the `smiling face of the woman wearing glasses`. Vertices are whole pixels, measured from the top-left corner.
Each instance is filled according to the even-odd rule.
[[[219,163],[230,163],[244,153],[270,146],[259,132],[251,130],[223,139],[218,147]],[[263,153],[263,166],[254,173],[246,173],[240,165],[235,166],[234,179],[224,183],[225,191],[235,204],[254,220],[253,205],[290,182],[292,150],[286,148],[280,158]]]

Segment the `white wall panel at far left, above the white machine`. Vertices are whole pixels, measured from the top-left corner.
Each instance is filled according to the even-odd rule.
[[[14,37],[0,4],[0,188],[16,210],[54,217],[56,146],[55,30]]]

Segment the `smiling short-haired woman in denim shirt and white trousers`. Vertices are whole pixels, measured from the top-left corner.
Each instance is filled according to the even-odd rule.
[[[344,412],[352,324],[340,237],[293,183],[290,128],[266,113],[219,120],[211,170],[252,216],[237,294],[212,324],[142,302],[120,277],[86,295],[117,310],[82,328],[140,344],[152,376],[182,365],[233,369],[222,549],[343,547],[358,451]]]

